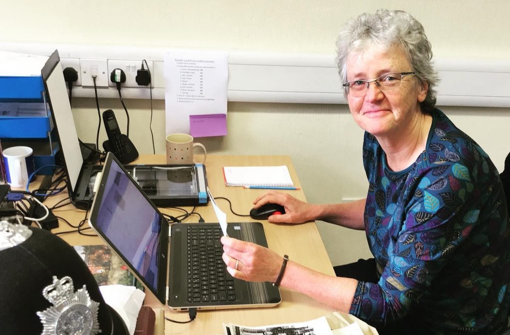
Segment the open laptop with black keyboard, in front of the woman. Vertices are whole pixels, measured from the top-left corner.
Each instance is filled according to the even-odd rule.
[[[246,282],[226,271],[218,223],[176,223],[169,229],[111,153],[98,179],[89,224],[145,288],[172,309],[271,307],[282,300],[271,283]],[[229,223],[227,232],[267,247],[260,222]]]

